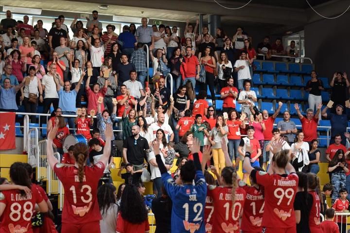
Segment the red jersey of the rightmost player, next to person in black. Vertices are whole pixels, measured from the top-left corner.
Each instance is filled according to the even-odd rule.
[[[310,215],[309,215],[309,228],[312,233],[322,233],[321,230],[321,202],[318,194],[313,191],[309,191],[309,194],[313,197],[313,204],[311,206]]]

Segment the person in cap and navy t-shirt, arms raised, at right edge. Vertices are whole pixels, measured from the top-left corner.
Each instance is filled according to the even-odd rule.
[[[322,110],[322,116],[331,121],[331,141],[330,144],[334,143],[334,137],[337,134],[341,135],[341,144],[346,145],[346,137],[344,133],[348,127],[348,121],[350,120],[350,109],[348,108],[348,114],[344,113],[344,106],[337,104],[335,106],[335,114],[327,113],[328,107],[326,106]]]

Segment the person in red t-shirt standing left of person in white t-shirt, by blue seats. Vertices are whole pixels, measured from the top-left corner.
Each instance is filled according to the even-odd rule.
[[[220,91],[220,97],[224,100],[223,112],[229,112],[236,109],[236,99],[238,98],[238,90],[233,86],[233,78],[227,79],[227,86]]]

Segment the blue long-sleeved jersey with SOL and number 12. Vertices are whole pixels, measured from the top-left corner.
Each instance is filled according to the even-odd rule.
[[[178,185],[168,173],[162,174],[165,190],[173,201],[172,233],[205,233],[204,208],[207,184],[203,172],[196,171],[195,185]]]

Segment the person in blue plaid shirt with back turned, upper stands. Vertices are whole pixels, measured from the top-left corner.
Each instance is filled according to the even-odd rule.
[[[147,76],[146,58],[147,54],[143,50],[142,43],[137,43],[137,49],[131,54],[130,63],[136,67],[138,81],[142,84],[142,87],[144,87],[144,81]]]

